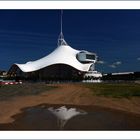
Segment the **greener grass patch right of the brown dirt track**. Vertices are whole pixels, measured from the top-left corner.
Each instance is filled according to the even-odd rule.
[[[140,84],[136,83],[96,83],[84,84],[90,88],[93,95],[116,98],[140,97]]]

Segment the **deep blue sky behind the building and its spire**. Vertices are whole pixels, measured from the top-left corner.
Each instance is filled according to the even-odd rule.
[[[0,10],[0,69],[49,54],[59,33],[60,10]],[[140,10],[64,10],[63,33],[101,72],[140,71]]]

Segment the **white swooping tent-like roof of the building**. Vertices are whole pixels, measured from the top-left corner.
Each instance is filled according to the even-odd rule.
[[[75,50],[68,45],[61,45],[58,46],[52,53],[39,60],[15,65],[17,65],[23,72],[37,71],[54,64],[66,64],[79,71],[86,72],[93,63],[83,64],[79,62],[76,58],[76,54],[79,52],[79,50]]]

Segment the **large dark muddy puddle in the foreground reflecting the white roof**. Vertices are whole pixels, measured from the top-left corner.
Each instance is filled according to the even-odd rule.
[[[1,130],[140,130],[140,115],[96,106],[42,104],[22,109]]]

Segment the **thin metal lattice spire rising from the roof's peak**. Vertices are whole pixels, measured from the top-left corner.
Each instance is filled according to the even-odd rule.
[[[63,35],[63,10],[61,10],[61,27],[60,27],[60,35],[58,37],[58,46],[62,46],[62,45],[67,45],[67,42],[64,39],[64,35]]]

